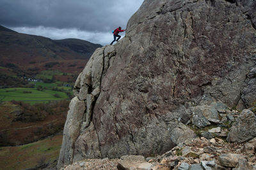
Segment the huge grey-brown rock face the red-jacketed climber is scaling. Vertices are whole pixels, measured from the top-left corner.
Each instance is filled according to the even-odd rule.
[[[79,133],[65,125],[58,167],[83,158],[161,154],[195,137],[185,132],[189,122],[202,128],[218,123],[228,107],[252,107],[255,6],[145,0],[125,37],[98,48],[79,74],[74,94],[85,103],[84,114],[68,113],[80,118]]]

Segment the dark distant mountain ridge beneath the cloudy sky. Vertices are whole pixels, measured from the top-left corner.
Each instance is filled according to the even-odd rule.
[[[52,40],[43,36],[21,34],[0,25],[0,66],[15,64],[19,67],[33,67],[34,65],[42,69],[47,62],[65,62],[74,65],[70,60],[87,61],[95,49],[101,46],[81,39]]]

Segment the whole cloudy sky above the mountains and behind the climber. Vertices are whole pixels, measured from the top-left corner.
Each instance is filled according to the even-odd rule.
[[[143,0],[0,0],[0,25],[51,39],[79,38],[106,45],[125,29]],[[120,34],[124,36],[124,33]]]

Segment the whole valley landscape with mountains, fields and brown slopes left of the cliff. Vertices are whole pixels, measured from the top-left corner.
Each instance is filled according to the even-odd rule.
[[[20,34],[0,25],[1,168],[57,163],[72,87],[100,46]]]

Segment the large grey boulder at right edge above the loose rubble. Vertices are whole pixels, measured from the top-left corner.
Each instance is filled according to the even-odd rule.
[[[256,136],[256,116],[250,110],[243,110],[228,133],[228,142],[242,143]]]

